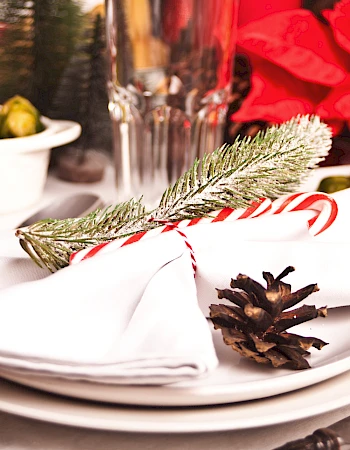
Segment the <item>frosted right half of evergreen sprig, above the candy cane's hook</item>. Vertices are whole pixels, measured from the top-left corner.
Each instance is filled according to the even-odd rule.
[[[155,219],[192,218],[223,207],[247,207],[261,197],[295,191],[331,148],[318,117],[297,117],[205,155],[163,195]]]

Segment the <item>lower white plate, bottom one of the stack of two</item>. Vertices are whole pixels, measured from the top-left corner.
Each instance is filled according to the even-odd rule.
[[[207,408],[137,408],[70,400],[0,380],[0,410],[45,422],[144,433],[242,430],[317,416],[350,404],[350,372],[265,400]],[[136,395],[136,394],[135,394]]]

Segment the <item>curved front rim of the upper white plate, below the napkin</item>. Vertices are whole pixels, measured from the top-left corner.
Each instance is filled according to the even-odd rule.
[[[278,380],[278,383],[273,384],[272,390],[271,378],[239,383],[238,389],[234,383],[197,386],[108,384],[67,379],[59,375],[45,376],[29,370],[22,372],[21,369],[13,370],[5,366],[0,367],[0,377],[29,388],[77,400],[139,407],[208,407],[284,395],[322,383],[347,371],[350,371],[350,355],[319,367],[273,377],[272,380]],[[257,387],[252,389],[254,384]],[[104,393],[105,389],[113,389],[113,397],[108,397],[111,392]],[[227,396],[231,396],[229,400]],[[152,401],[149,398],[152,398]]]

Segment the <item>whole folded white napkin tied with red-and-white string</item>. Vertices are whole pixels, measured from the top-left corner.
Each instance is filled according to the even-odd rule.
[[[350,190],[338,197],[338,218],[316,238],[307,230],[311,211],[186,228],[196,279],[176,231],[43,279],[38,278],[45,270],[26,272],[25,279],[30,273],[35,281],[21,282],[19,276],[18,284],[0,291],[0,368],[129,384],[204,375],[217,365],[205,315],[218,302],[215,288],[228,287],[238,273],[263,282],[262,271],[277,275],[293,265],[296,271],[286,280],[293,290],[319,284],[308,304],[348,304],[350,240],[344,222],[349,223]],[[13,242],[5,241],[0,240],[1,281],[17,264],[35,267],[24,254],[9,264]]]

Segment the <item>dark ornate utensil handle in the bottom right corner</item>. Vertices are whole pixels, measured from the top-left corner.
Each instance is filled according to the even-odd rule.
[[[350,416],[274,450],[350,450]]]

